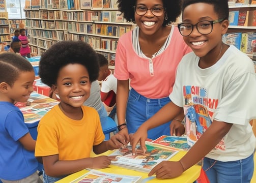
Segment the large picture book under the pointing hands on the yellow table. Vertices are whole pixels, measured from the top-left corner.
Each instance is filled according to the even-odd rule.
[[[132,155],[131,146],[117,149],[109,156],[116,156],[111,160],[112,165],[137,170],[141,172],[150,172],[157,164],[162,161],[167,161],[178,153],[178,150],[168,149],[153,144],[146,144],[147,151],[145,155]],[[137,149],[140,146],[137,145]]]

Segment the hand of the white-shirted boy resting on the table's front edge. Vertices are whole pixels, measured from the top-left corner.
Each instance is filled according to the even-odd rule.
[[[162,161],[149,172],[149,176],[156,174],[156,178],[159,179],[174,178],[183,172],[184,169],[180,162]]]

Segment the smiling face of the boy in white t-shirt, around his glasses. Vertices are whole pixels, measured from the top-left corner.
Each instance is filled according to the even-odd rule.
[[[206,3],[191,4],[183,11],[183,22],[191,24],[196,24],[202,20],[217,20],[221,18],[223,17],[218,17],[214,11],[214,6]],[[189,36],[183,37],[183,39],[197,56],[205,57],[209,62],[213,62],[218,57],[220,45],[222,44],[222,35],[226,33],[228,25],[229,22],[227,20],[214,23],[212,32],[208,35],[198,33],[194,26],[193,32]]]

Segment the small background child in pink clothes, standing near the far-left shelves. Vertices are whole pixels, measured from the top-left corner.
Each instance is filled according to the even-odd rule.
[[[30,58],[30,46],[29,46],[29,38],[26,37],[26,30],[24,28],[21,28],[19,30],[19,40],[21,42],[21,47],[20,47],[20,50],[19,50],[19,53],[21,56],[23,57],[27,57],[27,58]]]

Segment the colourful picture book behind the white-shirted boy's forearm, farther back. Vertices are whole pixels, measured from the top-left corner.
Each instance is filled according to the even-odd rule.
[[[190,146],[187,144],[187,137],[162,135],[153,140],[151,143],[155,145],[163,145],[175,150],[189,150]]]

